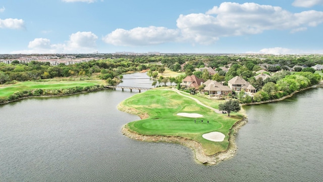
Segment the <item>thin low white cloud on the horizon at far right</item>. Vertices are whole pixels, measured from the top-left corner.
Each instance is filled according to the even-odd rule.
[[[323,54],[323,50],[298,50],[288,48],[265,48],[258,52],[246,52],[246,53],[257,53],[257,54]]]

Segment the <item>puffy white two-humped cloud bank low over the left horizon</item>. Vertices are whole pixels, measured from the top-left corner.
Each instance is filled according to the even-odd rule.
[[[66,43],[51,44],[47,38],[35,38],[28,44],[29,50],[14,51],[11,54],[32,53],[93,53],[96,51],[97,36],[92,32],[76,32]]]

